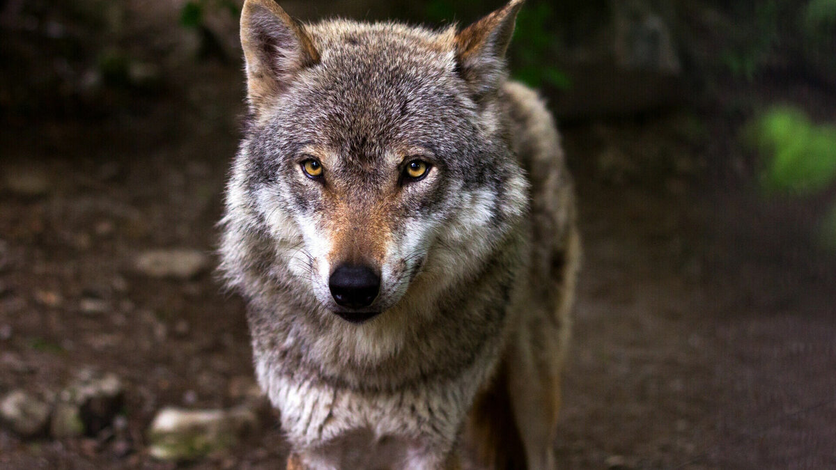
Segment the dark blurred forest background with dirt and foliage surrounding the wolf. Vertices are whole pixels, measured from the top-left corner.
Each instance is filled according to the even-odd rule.
[[[240,4],[0,0],[0,467],[282,466],[212,273]],[[528,0],[509,55],[579,193],[561,467],[836,467],[836,2]]]

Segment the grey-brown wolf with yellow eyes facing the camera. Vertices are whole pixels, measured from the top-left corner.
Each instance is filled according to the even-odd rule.
[[[288,468],[555,466],[580,238],[553,118],[507,78],[522,4],[431,30],[244,3],[220,270]]]

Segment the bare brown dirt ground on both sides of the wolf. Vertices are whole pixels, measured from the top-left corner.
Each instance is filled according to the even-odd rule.
[[[48,183],[0,193],[0,392],[115,372],[130,437],[125,448],[0,428],[0,467],[173,467],[145,447],[155,411],[230,406],[231,384],[252,375],[242,301],[210,270],[173,281],[132,268],[150,248],[212,253],[240,132],[237,66],[169,81],[116,95],[127,105],[104,117],[0,128],[5,174]],[[832,91],[784,85],[751,93],[780,90],[836,119]],[[836,467],[836,260],[810,242],[826,200],[759,197],[713,105],[562,125],[584,233],[562,468]],[[91,295],[110,308],[84,313]],[[283,456],[268,424],[187,467],[277,468]]]

